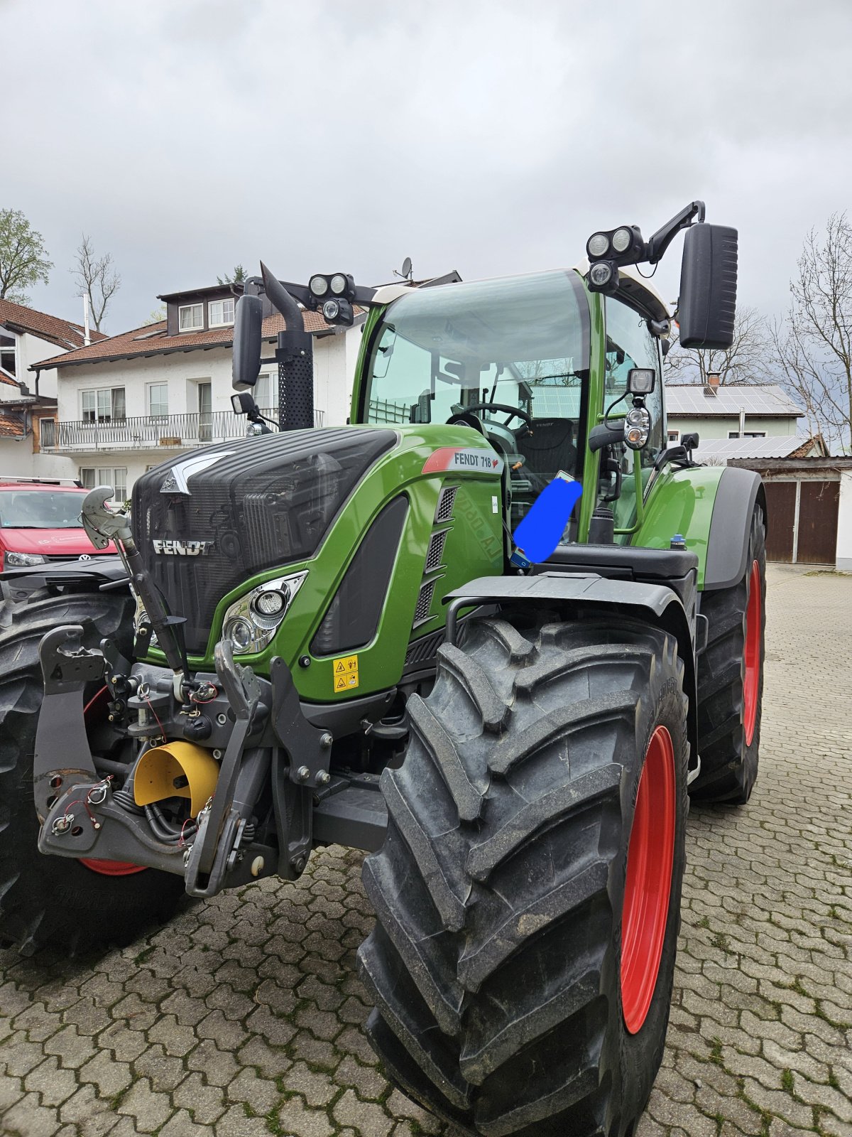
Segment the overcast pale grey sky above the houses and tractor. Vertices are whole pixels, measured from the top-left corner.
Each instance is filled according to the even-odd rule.
[[[236,262],[473,280],[694,198],[772,314],[850,199],[849,0],[0,0],[0,206],[55,263],[32,304],[82,319],[85,232],[123,277],[111,333]]]

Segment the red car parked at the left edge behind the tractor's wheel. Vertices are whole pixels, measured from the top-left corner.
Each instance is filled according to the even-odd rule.
[[[0,476],[3,570],[101,556],[80,520],[87,492],[80,482],[67,479]],[[112,543],[102,550],[115,551]]]

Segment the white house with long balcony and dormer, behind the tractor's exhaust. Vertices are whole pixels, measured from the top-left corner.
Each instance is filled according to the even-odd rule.
[[[85,485],[110,484],[130,497],[151,466],[210,442],[242,438],[244,417],[231,406],[235,298],[231,287],[170,292],[158,299],[166,318],[32,365],[58,375],[58,423],[42,450],[69,456]],[[351,327],[304,312],[314,335],[317,425],[346,421],[365,314]],[[264,298],[264,356],[272,357],[284,317]],[[261,367],[254,389],[261,412],[277,418],[277,367]]]

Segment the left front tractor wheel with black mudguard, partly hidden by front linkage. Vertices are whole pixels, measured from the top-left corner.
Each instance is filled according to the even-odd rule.
[[[167,919],[183,880],[111,862],[86,868],[36,848],[33,749],[43,684],[39,644],[59,624],[82,624],[83,644],[103,637],[125,646],[133,608],[126,596],[33,594],[7,601],[0,616],[0,941],[24,955],[53,946],[66,954],[99,944],[126,944],[147,924]]]

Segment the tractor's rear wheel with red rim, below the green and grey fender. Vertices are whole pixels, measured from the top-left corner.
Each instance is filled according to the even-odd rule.
[[[699,656],[696,800],[743,805],[758,777],[766,631],[766,526],[754,507],[743,579],[701,596],[708,645]]]

